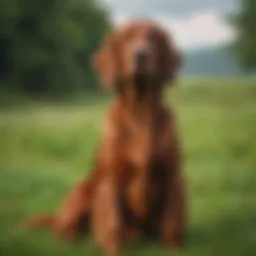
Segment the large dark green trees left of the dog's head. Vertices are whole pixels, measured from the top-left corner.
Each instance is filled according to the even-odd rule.
[[[95,86],[90,54],[111,26],[98,1],[2,0],[0,26],[8,90],[56,96]]]

